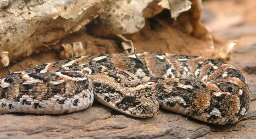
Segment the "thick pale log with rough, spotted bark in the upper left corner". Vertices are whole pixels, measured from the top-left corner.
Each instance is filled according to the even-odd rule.
[[[98,16],[105,0],[0,1],[0,52],[11,61],[39,52]]]

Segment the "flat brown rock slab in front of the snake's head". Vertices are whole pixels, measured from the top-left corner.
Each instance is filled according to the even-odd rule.
[[[210,128],[201,122],[160,110],[152,118],[123,115],[101,105],[66,115],[5,114],[0,138],[197,138]],[[186,125],[186,126],[184,126]],[[14,134],[15,133],[15,134]]]

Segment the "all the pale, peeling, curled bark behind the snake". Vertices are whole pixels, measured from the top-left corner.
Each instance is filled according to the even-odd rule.
[[[173,20],[172,24],[167,26],[178,28],[185,35],[202,40],[207,56],[225,59],[233,50],[233,45],[231,45],[233,43],[226,41],[218,43],[216,46],[210,30],[200,23],[201,0],[2,0],[0,1],[0,55],[2,62],[0,66],[7,66],[9,61],[15,62],[32,53],[56,48],[55,44],[59,47],[72,46],[72,49],[76,49],[75,51],[85,51],[80,48],[81,45],[79,48],[75,48],[77,45],[58,42],[68,34],[79,31],[95,17],[99,16],[98,20],[101,24],[90,26],[91,34],[108,38],[111,35],[133,35],[141,31],[145,26],[145,18],[152,18],[161,13],[163,9],[169,9],[171,17],[174,18],[171,19]],[[172,39],[179,39],[179,36],[180,34],[174,34]],[[183,39],[190,40],[186,36]],[[80,42],[76,43],[81,44]],[[183,49],[192,51],[188,54],[197,54],[193,50],[197,49],[198,44],[195,43],[193,46],[195,48],[189,45]],[[131,52],[132,48],[132,46],[130,48],[127,45],[123,46],[124,50],[128,50],[127,52]],[[73,50],[71,50],[71,54],[70,49],[66,47],[63,49],[61,58],[86,54]],[[169,52],[176,52],[175,50],[177,48],[170,49]]]

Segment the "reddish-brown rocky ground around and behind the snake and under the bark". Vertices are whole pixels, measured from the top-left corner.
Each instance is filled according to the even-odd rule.
[[[226,138],[256,138],[256,1],[254,0],[206,0],[203,2],[201,21],[217,36],[225,39],[237,40],[237,45],[226,62],[237,67],[245,76],[250,92],[251,107],[247,116],[240,122],[226,126],[216,126],[175,114],[163,109],[157,116],[147,120],[138,120],[124,116],[118,112],[95,102],[87,111],[76,112],[62,116],[35,116],[25,114],[6,114],[1,116],[5,121],[0,129],[0,138],[199,138],[199,139],[226,139]],[[156,24],[156,28],[152,28]],[[158,51],[178,54],[196,54],[182,51],[179,41],[173,41],[170,32],[176,30],[164,28],[163,21],[158,18],[148,19],[146,26],[132,37],[138,51]],[[111,39],[98,39],[85,35],[80,30],[73,37],[65,37],[62,42],[81,41],[87,46],[86,55],[123,52],[118,42]],[[74,35],[74,34],[72,34]],[[180,40],[183,41],[183,40]],[[200,40],[198,40],[200,41]],[[178,47],[176,51],[173,44]],[[189,42],[191,43],[191,42]],[[189,45],[189,43],[187,43]],[[192,42],[193,43],[193,42]],[[161,45],[167,47],[160,47]],[[2,68],[0,76],[10,72],[33,67],[43,63],[60,60],[54,50],[47,50],[18,60]],[[99,114],[101,113],[101,114]],[[97,116],[93,116],[97,115]],[[40,120],[39,120],[40,118]],[[15,120],[16,119],[16,120]],[[17,121],[23,120],[22,127]],[[38,120],[35,125],[32,120]],[[155,122],[155,120],[157,122]],[[65,121],[63,123],[63,121]],[[55,123],[55,125],[46,125]],[[114,123],[114,124],[113,124]],[[14,134],[13,131],[17,133]]]

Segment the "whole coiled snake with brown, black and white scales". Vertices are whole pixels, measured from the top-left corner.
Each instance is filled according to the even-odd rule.
[[[232,65],[161,52],[81,56],[0,78],[0,115],[71,113],[94,99],[134,117],[152,117],[161,107],[225,125],[245,117],[250,91]]]

